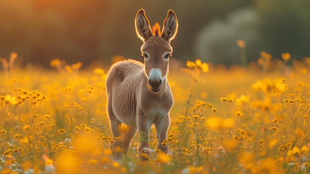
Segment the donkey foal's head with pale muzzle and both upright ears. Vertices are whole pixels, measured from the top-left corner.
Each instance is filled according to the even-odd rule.
[[[175,38],[178,28],[176,15],[172,10],[163,22],[163,29],[155,23],[151,30],[148,18],[143,9],[136,15],[136,33],[144,42],[141,47],[144,56],[145,74],[149,79],[149,85],[153,92],[160,90],[162,82],[165,80],[169,69],[169,57],[172,54],[170,41]]]

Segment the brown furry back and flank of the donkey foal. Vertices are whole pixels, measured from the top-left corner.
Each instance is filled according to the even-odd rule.
[[[143,68],[143,63],[136,60],[119,61],[111,66],[105,82],[108,114],[133,127],[136,127],[136,93],[142,81]]]

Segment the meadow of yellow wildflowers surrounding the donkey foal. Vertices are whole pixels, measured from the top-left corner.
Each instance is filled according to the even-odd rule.
[[[115,162],[108,69],[60,59],[14,68],[12,53],[0,69],[1,174],[308,174],[310,58],[260,56],[243,67],[193,59],[171,68],[169,153],[156,152],[153,126],[149,160],[137,156],[137,134]]]

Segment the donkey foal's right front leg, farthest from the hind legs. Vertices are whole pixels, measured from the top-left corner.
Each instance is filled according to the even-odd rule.
[[[157,149],[167,153],[168,147],[166,145],[162,145],[162,141],[167,139],[167,132],[170,125],[170,117],[167,114],[160,120],[155,121],[156,133],[157,133]]]

